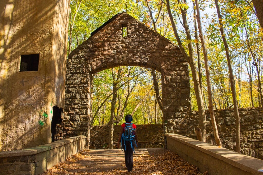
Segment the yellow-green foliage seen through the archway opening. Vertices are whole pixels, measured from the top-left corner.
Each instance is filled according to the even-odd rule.
[[[114,68],[117,73],[118,69]],[[160,73],[157,73],[160,82]],[[111,70],[104,70],[98,72],[94,76],[94,96],[93,96],[93,111],[97,110],[97,107],[102,101],[112,93],[112,73]],[[115,108],[115,119],[120,117],[119,109],[124,106],[125,99],[127,97],[127,91],[130,89],[131,93],[128,98],[127,107],[124,111],[124,116],[131,114],[136,105],[147,96],[147,98],[141,103],[139,108],[133,114],[133,122],[136,124],[154,124],[155,123],[155,92],[149,89],[153,86],[151,79],[151,72],[148,68],[125,66],[122,67],[121,79],[118,82],[120,89],[118,89],[118,99]],[[95,116],[94,125],[101,125],[102,118],[104,118],[104,124],[109,121],[110,118],[110,100],[105,102],[105,107],[101,108],[99,115]],[[162,114],[157,104],[157,123],[162,123]],[[120,124],[124,122],[124,116],[120,119]],[[99,123],[99,117],[100,123]]]

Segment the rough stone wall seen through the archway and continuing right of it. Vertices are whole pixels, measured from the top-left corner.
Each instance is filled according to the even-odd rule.
[[[241,153],[263,159],[263,109],[240,108]],[[174,124],[176,134],[196,139],[195,127],[198,126],[198,112],[193,111],[186,118],[178,118],[170,122]],[[235,150],[235,115],[233,109],[215,110],[219,137],[224,148]],[[213,128],[210,123],[210,113],[206,111],[206,142],[215,145]],[[137,125],[138,140],[141,147],[159,147],[163,144],[163,125]],[[118,141],[120,126],[114,125],[114,143]],[[92,148],[102,148],[108,144],[109,128],[107,126],[93,126],[91,130]],[[103,135],[103,136],[101,136]],[[155,140],[156,139],[156,140]],[[160,139],[160,140],[158,140]],[[151,142],[151,140],[153,140]],[[149,142],[149,144],[145,144]]]

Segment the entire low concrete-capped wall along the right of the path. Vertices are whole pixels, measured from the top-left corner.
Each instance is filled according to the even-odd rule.
[[[263,174],[263,160],[178,134],[165,134],[167,148],[209,174]],[[224,170],[225,169],[225,170]],[[224,174],[224,173],[223,173]]]

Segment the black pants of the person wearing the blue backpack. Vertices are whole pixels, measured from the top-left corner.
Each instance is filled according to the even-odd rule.
[[[125,144],[126,144],[126,151],[123,141],[122,148],[124,150],[125,165],[128,171],[130,172],[133,168],[133,149],[131,147],[130,141],[125,141]]]

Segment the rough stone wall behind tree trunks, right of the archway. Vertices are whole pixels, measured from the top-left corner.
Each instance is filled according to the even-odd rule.
[[[263,110],[262,108],[240,108],[241,153],[263,159]],[[195,126],[198,126],[198,112],[190,112],[186,118],[178,118],[173,123],[176,134],[196,139]],[[235,150],[234,109],[215,110],[219,137],[224,148]],[[210,113],[206,111],[206,139],[216,144],[211,125]]]

